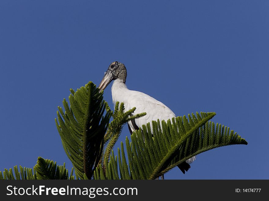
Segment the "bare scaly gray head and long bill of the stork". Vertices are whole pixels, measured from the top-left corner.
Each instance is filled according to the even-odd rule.
[[[112,62],[109,65],[107,71],[105,72],[101,83],[99,84],[99,91],[105,90],[105,87],[107,87],[107,85],[109,85],[112,80],[119,79],[125,84],[126,77],[127,70],[125,68],[125,65],[118,61]]]

